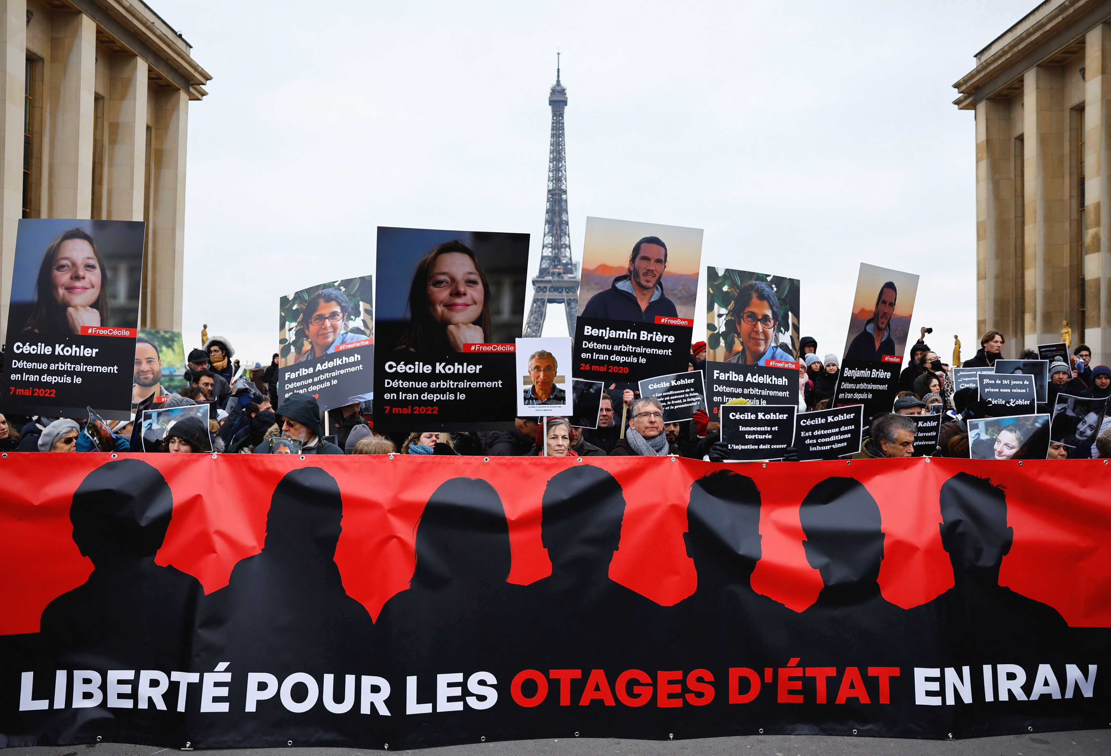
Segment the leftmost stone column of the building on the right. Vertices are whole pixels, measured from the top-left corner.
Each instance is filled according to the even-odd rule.
[[[1022,271],[1014,265],[1013,147],[1009,100],[982,100],[977,104],[975,159],[977,332],[962,334],[963,342],[978,344],[981,334],[995,330],[1007,334],[1010,345],[1020,332],[1015,327],[1012,281]]]

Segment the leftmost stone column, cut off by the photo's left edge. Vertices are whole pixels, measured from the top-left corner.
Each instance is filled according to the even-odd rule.
[[[8,300],[16,260],[16,231],[23,214],[23,87],[27,0],[0,0],[0,343],[8,329]]]

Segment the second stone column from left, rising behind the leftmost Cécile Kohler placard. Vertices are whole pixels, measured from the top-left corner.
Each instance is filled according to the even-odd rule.
[[[46,218],[92,211],[93,90],[97,24],[84,13],[54,11],[50,40],[50,191]]]

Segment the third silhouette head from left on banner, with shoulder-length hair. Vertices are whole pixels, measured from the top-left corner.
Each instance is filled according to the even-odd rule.
[[[453,477],[437,488],[417,523],[417,569],[410,585],[504,583],[511,566],[509,523],[493,486]]]

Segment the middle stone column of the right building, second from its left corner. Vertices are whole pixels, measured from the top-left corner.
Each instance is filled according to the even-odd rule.
[[[1069,274],[1064,75],[1038,65],[1023,75],[1025,163],[1025,349],[1061,339]],[[1033,306],[1031,306],[1033,305]]]

